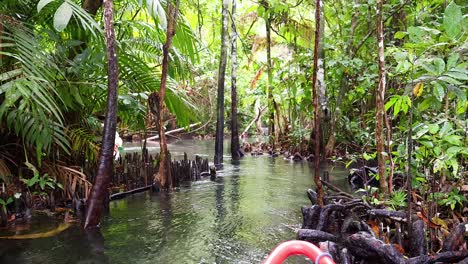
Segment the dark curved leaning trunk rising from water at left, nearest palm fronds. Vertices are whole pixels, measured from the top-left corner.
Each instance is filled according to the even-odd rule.
[[[117,95],[119,70],[117,63],[117,48],[115,44],[114,19],[112,0],[104,1],[104,26],[106,29],[107,48],[107,114],[104,121],[101,153],[96,181],[88,199],[85,228],[96,227],[101,221],[105,203],[109,201],[108,187],[113,166],[115,132],[117,129]]]

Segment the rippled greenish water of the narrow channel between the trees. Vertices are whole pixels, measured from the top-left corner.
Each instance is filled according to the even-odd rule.
[[[212,145],[183,140],[170,149],[174,156],[186,151],[212,159]],[[323,169],[346,186],[342,167]],[[295,238],[300,206],[310,203],[305,190],[313,185],[312,171],[307,162],[249,155],[232,164],[226,157],[215,182],[111,202],[102,237],[72,227],[52,238],[0,240],[0,263],[260,263],[278,243]]]

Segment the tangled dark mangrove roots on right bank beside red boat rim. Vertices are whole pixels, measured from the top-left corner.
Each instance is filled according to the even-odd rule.
[[[468,264],[468,222],[453,228],[439,252],[430,254],[426,230],[432,227],[416,215],[409,225],[405,212],[373,208],[329,183],[324,185],[329,189],[324,207],[315,205],[313,190],[307,191],[313,205],[302,207],[297,237],[319,245],[336,263]]]

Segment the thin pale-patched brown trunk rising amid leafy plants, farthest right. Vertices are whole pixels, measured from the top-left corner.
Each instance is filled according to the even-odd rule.
[[[385,149],[384,149],[384,100],[385,100],[385,86],[386,86],[386,72],[385,72],[385,54],[384,54],[384,37],[383,37],[383,22],[382,22],[382,2],[377,0],[377,43],[378,43],[378,57],[379,57],[379,86],[376,95],[376,141],[377,141],[377,161],[380,177],[380,191],[388,193],[387,177],[385,173]]]

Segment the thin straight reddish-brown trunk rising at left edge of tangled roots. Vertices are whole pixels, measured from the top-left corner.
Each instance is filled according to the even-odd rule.
[[[312,101],[314,103],[314,182],[317,186],[317,202],[319,206],[323,206],[323,186],[320,181],[320,122],[319,122],[319,95],[317,91],[317,72],[319,60],[319,43],[320,43],[320,5],[321,0],[315,1],[315,47],[314,47],[314,72],[312,75]]]

